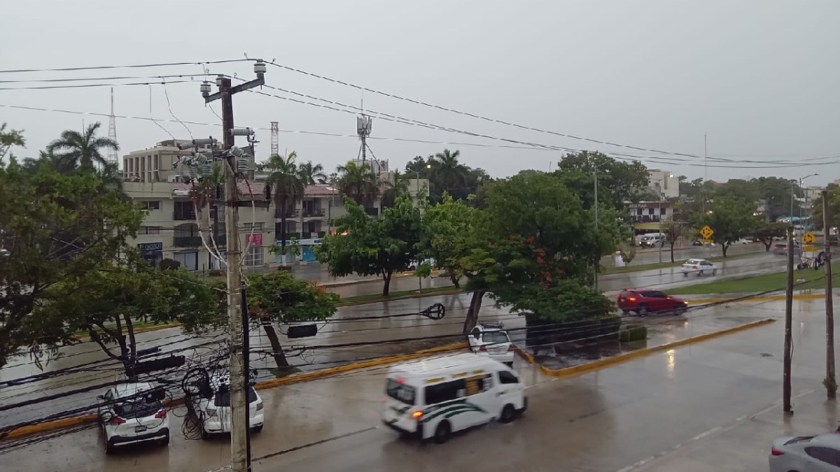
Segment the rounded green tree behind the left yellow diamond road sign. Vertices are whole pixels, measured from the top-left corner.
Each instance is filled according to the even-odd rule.
[[[708,225],[715,232],[712,239],[720,244],[723,257],[726,257],[732,243],[753,234],[757,224],[753,212],[754,203],[733,197],[715,197],[711,214],[697,215],[695,226],[702,228]]]

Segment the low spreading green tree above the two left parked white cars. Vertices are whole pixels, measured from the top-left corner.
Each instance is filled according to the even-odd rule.
[[[102,351],[126,366],[137,360],[134,325],[183,323],[195,333],[222,321],[220,294],[184,269],[162,275],[139,257],[66,277],[46,289],[24,322],[34,349],[76,344],[88,333]]]

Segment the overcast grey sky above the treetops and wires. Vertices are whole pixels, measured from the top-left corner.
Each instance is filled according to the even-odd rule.
[[[249,2],[41,1],[3,4],[3,70],[122,66],[262,57],[447,108],[560,134],[645,149],[733,160],[786,161],[797,167],[710,160],[708,177],[811,173],[807,184],[840,178],[840,2],[752,0],[617,0],[501,2]],[[208,66],[211,74],[254,77],[248,62]],[[173,134],[179,139],[220,136],[219,119],[199,92],[202,66],[3,73],[0,80],[185,75],[196,80],[162,87],[114,87],[118,115],[212,123],[155,123],[117,119],[124,152]],[[192,75],[192,76],[191,76]],[[599,149],[658,157],[648,167],[690,178],[703,160],[659,155],[513,128],[446,113],[269,66],[274,87],[402,118],[501,139],[571,149]],[[167,79],[177,81],[179,79]],[[211,78],[212,80],[212,78]],[[121,83],[134,80],[93,81]],[[159,80],[158,80],[159,81]],[[73,82],[79,83],[79,82]],[[7,82],[0,87],[55,85]],[[264,89],[274,95],[295,97]],[[167,107],[165,92],[171,104]],[[299,98],[299,97],[298,97]],[[305,99],[313,102],[312,99]],[[109,88],[0,90],[0,104],[108,113]],[[213,108],[220,113],[218,102]],[[271,121],[288,131],[355,134],[353,113],[244,92],[234,97],[235,121],[258,130],[257,158],[270,151]],[[63,129],[108,118],[0,108],[0,122],[25,129],[27,149],[38,149]],[[402,169],[415,155],[460,149],[466,165],[493,176],[522,169],[549,170],[558,150],[479,147],[515,145],[374,119],[370,148]],[[380,139],[381,138],[381,139]],[[415,143],[423,139],[461,144]],[[353,159],[354,137],[280,135],[280,149],[328,171]],[[832,156],[834,156],[832,158]],[[677,161],[679,160],[679,161]],[[830,163],[815,165],[815,163]],[[685,165],[685,163],[697,166]],[[779,165],[778,163],[772,165]]]

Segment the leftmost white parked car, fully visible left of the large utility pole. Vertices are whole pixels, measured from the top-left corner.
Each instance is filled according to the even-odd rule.
[[[97,398],[105,453],[117,446],[154,441],[169,444],[169,417],[163,389],[147,382],[114,385]]]

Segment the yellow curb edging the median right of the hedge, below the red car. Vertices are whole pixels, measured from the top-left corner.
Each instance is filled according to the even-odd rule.
[[[517,346],[516,349],[517,353],[522,357],[522,359],[528,361],[529,364],[537,365],[539,371],[542,372],[543,375],[548,375],[550,377],[557,377],[562,379],[566,377],[573,377],[575,375],[585,374],[593,370],[601,370],[605,367],[609,367],[616,364],[622,364],[627,361],[638,359],[641,357],[647,357],[650,354],[656,354],[661,351],[667,351],[669,349],[678,348],[680,346],[685,346],[686,344],[695,344],[701,341],[706,341],[708,339],[725,336],[727,334],[738,333],[739,331],[745,331],[750,328],[756,328],[768,323],[773,323],[774,321],[775,320],[773,318],[765,318],[763,320],[741,324],[732,328],[721,329],[718,331],[712,331],[711,333],[693,336],[691,338],[685,338],[680,339],[678,341],[672,341],[670,343],[659,344],[659,346],[654,346],[651,348],[638,349],[629,353],[614,355],[606,359],[599,359],[592,362],[587,362],[586,364],[564,367],[563,369],[549,369],[548,367],[538,364],[536,359],[534,359],[533,355],[528,354],[527,352],[525,352],[524,349],[519,348],[519,346]]]

